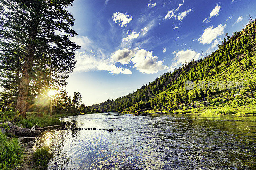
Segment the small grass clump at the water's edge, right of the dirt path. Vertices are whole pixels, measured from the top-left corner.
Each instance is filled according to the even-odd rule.
[[[48,147],[39,147],[34,152],[34,161],[40,169],[47,169],[47,164],[52,157],[53,153]]]

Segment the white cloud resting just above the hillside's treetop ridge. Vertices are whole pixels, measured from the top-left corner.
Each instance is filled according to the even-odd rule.
[[[193,51],[191,49],[188,49],[186,51],[181,50],[175,54],[175,57],[173,58],[172,67],[178,66],[180,64],[185,64],[185,61],[188,63],[193,58],[194,60],[196,60],[199,57],[200,57],[200,53]]]

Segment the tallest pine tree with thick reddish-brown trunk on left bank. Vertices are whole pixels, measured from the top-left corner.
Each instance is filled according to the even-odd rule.
[[[0,2],[0,48],[6,45],[14,48],[20,44],[19,49],[24,58],[15,109],[23,117],[26,117],[29,84],[37,61],[51,63],[51,58],[56,58],[52,60],[55,64],[62,61],[62,66],[67,68],[60,76],[74,69],[74,50],[79,46],[69,39],[77,33],[70,28],[74,19],[66,10],[72,3],[73,0]],[[55,35],[57,30],[65,34]]]

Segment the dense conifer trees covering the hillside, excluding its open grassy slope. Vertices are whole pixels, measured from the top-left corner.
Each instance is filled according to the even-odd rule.
[[[222,66],[229,66],[232,63],[238,64],[242,72],[252,67],[251,50],[255,49],[255,33],[255,21],[251,19],[250,24],[242,31],[234,32],[231,37],[227,33],[227,39],[225,38],[222,44],[218,44],[218,49],[210,55],[205,56],[202,51],[203,58],[193,59],[188,63],[185,61],[185,65],[182,64],[179,68],[175,68],[172,73],[164,73],[153,82],[137,89],[136,92],[118,97],[115,100],[94,104],[90,108],[97,108],[101,112],[121,112],[152,108],[157,110],[161,106],[168,105],[172,109],[181,103],[191,103],[194,106],[196,100],[205,96],[210,102],[212,92],[206,87],[207,85],[204,85],[205,88],[200,90],[194,89],[188,94],[184,86],[185,81],[212,81],[215,78],[215,73],[222,72]],[[245,62],[240,58],[241,54],[246,54]],[[224,73],[223,75],[225,77]],[[223,80],[227,81],[224,77]],[[252,85],[250,86],[248,83],[248,86],[251,97],[254,98]],[[228,89],[227,92],[231,94]]]

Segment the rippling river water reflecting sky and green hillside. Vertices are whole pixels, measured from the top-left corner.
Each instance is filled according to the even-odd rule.
[[[37,144],[55,153],[48,169],[256,169],[256,117],[97,113],[64,117],[66,128]]]

